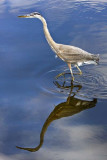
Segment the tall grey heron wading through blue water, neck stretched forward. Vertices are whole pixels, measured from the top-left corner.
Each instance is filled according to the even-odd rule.
[[[43,30],[44,30],[44,34],[45,34],[48,44],[50,45],[51,49],[56,53],[56,56],[58,56],[61,60],[67,63],[70,73],[71,73],[72,81],[74,81],[74,75],[73,75],[71,64],[74,65],[79,70],[78,74],[80,75],[82,75],[82,71],[80,70],[79,66],[81,66],[82,64],[84,63],[85,64],[98,64],[99,54],[98,55],[91,54],[81,48],[78,48],[72,45],[56,43],[53,40],[48,30],[48,26],[47,26],[47,22],[45,18],[40,13],[33,12],[30,14],[21,15],[18,17],[20,18],[38,18],[39,20],[41,20],[41,22],[43,23]],[[63,72],[59,74],[58,76],[56,76],[56,78],[64,74],[65,73]]]

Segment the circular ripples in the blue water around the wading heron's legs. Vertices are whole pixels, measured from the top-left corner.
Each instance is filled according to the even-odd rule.
[[[72,94],[87,98],[107,98],[107,72],[106,55],[101,57],[99,65],[84,65],[81,67],[83,75],[73,67],[75,80],[73,82]],[[56,79],[56,75],[66,72],[67,74]],[[71,75],[66,65],[58,66],[41,72],[39,76],[39,86],[44,93],[54,94],[60,97],[67,97],[72,88]],[[78,87],[80,89],[78,90]]]

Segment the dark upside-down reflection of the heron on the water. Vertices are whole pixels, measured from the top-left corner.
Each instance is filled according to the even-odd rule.
[[[69,94],[66,102],[62,102],[62,103],[58,104],[57,106],[55,106],[54,110],[50,113],[50,115],[46,119],[46,121],[42,127],[41,133],[40,133],[39,145],[35,148],[22,148],[22,147],[16,146],[17,148],[27,150],[30,152],[38,151],[41,148],[41,146],[43,145],[44,136],[45,136],[45,133],[46,133],[48,126],[54,120],[57,120],[57,119],[60,119],[63,117],[73,116],[74,114],[77,114],[85,109],[95,107],[95,105],[97,103],[97,99],[93,98],[91,101],[89,101],[89,100],[83,100],[83,99],[79,99],[79,98],[75,97],[77,92],[79,92],[79,90],[82,88],[81,85],[78,85],[78,84],[74,85],[73,82],[71,82],[70,86],[65,86],[65,83],[66,82],[64,82],[63,85],[60,85],[58,81],[54,82],[54,84],[58,88],[70,89],[70,94]],[[76,91],[73,92],[73,89],[76,89]]]

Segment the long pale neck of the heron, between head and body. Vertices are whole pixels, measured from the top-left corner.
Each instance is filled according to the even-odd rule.
[[[42,16],[41,16],[39,19],[40,19],[40,20],[42,21],[42,23],[43,23],[44,34],[45,34],[45,37],[46,37],[46,39],[47,39],[50,47],[55,50],[56,42],[52,39],[52,37],[51,37],[51,35],[50,35],[50,33],[49,33],[46,20],[45,20]]]

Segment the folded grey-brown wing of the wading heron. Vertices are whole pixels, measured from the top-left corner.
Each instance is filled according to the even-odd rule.
[[[59,57],[66,62],[77,63],[77,62],[87,62],[96,61],[96,56],[88,53],[78,47],[69,45],[59,45]]]

